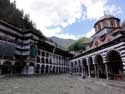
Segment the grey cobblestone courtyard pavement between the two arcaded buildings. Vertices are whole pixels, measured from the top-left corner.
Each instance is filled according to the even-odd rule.
[[[70,75],[0,78],[0,94],[125,94],[125,81]]]

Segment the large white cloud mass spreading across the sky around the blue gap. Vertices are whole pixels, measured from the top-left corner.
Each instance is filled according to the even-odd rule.
[[[104,14],[104,10],[108,10],[111,14],[120,13],[120,7],[107,5],[107,2],[107,0],[16,0],[16,5],[30,15],[36,27],[45,36],[60,34],[62,37],[75,39],[79,36],[68,32],[63,34],[63,29],[76,20],[99,19]],[[84,11],[83,6],[86,8]],[[47,28],[51,26],[55,28]]]

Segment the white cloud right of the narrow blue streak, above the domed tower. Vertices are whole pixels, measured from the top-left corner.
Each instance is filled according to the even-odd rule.
[[[86,7],[87,19],[98,20],[104,15],[104,11],[111,15],[121,13],[120,6],[114,4],[108,5],[108,0],[81,0],[82,4]],[[83,15],[84,16],[84,15]]]

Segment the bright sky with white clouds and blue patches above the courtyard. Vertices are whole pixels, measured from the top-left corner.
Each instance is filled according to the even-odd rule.
[[[14,0],[10,0],[13,2]],[[91,37],[104,13],[125,20],[125,0],[15,0],[46,37]]]

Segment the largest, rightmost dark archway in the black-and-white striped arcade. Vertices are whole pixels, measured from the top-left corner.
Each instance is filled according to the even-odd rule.
[[[120,54],[110,51],[107,55],[109,77],[114,79],[123,74],[123,65]]]

